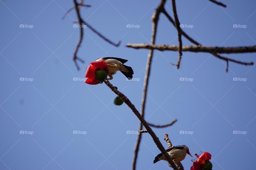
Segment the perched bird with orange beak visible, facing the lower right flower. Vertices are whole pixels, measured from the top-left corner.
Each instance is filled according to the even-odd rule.
[[[183,159],[185,159],[186,154],[189,154],[193,158],[193,156],[189,152],[189,148],[186,145],[174,146],[167,149],[166,152],[171,156],[171,159],[174,163],[181,162]],[[159,160],[166,160],[162,153],[158,154],[155,157],[153,163],[157,163]]]

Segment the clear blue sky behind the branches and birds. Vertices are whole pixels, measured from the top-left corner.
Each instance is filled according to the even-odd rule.
[[[183,30],[203,45],[255,45],[256,2],[222,2],[227,8],[207,0],[176,2],[180,23],[187,25]],[[82,18],[122,43],[113,47],[84,28],[78,56],[85,63],[79,63],[78,71],[71,60],[79,38],[79,29],[73,28],[77,17],[71,11],[61,19],[73,6],[71,0],[1,0],[0,169],[131,168],[137,117],[126,104],[113,104],[116,95],[104,83],[89,85],[83,78],[89,63],[99,57],[127,59],[138,81],[117,73],[110,82],[139,110],[148,50],[125,45],[149,43],[150,18],[158,3],[86,1],[92,6],[81,9]],[[165,8],[173,16],[170,0]],[[163,14],[156,44],[178,45],[177,31]],[[256,62],[254,53],[223,56]],[[149,79],[145,119],[154,124],[178,119],[171,127],[153,128],[163,146],[167,148],[167,133],[173,145],[187,145],[192,155],[209,152],[213,169],[255,169],[256,67],[230,62],[226,73],[226,63],[209,53],[183,52],[177,70],[170,64],[177,58],[178,52],[155,51]],[[153,164],[159,153],[150,135],[143,134],[137,168],[169,169],[164,161]],[[187,156],[182,161],[185,169],[190,160]]]

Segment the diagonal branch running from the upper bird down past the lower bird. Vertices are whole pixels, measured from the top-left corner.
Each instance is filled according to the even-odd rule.
[[[152,137],[153,141],[157,145],[158,149],[162,152],[164,157],[166,158],[167,162],[171,164],[172,168],[175,170],[178,170],[177,166],[174,164],[173,160],[171,159],[170,155],[167,154],[165,148],[163,147],[162,143],[159,141],[158,137],[155,135],[154,131],[150,128],[150,126],[147,124],[145,119],[141,116],[139,111],[135,108],[135,106],[131,103],[131,101],[120,91],[118,91],[111,83],[109,83],[108,80],[105,80],[104,83],[118,96],[122,98],[125,104],[133,111],[133,113],[138,117],[139,121],[142,123],[142,125],[145,127],[145,129],[148,131],[150,136]]]

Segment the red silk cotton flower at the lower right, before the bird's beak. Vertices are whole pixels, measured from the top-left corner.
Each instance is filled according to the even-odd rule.
[[[195,154],[197,156],[197,160],[193,161],[193,166],[190,168],[190,170],[206,170],[208,168],[206,168],[205,166],[209,166],[210,163],[210,159],[211,159],[211,154],[208,152],[204,152],[202,155],[198,156],[197,154]],[[210,165],[212,167],[212,165]],[[209,166],[209,168],[211,169],[211,167]],[[205,168],[202,168],[205,167]]]

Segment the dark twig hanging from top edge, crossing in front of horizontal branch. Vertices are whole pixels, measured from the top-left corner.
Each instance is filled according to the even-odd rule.
[[[181,56],[182,56],[182,40],[181,40],[181,27],[179,26],[179,18],[176,10],[176,5],[175,5],[175,0],[172,0],[172,5],[173,5],[173,15],[174,15],[174,20],[175,20],[175,27],[178,31],[178,40],[179,40],[179,58],[177,61],[177,69],[179,69],[179,64],[181,63]]]

